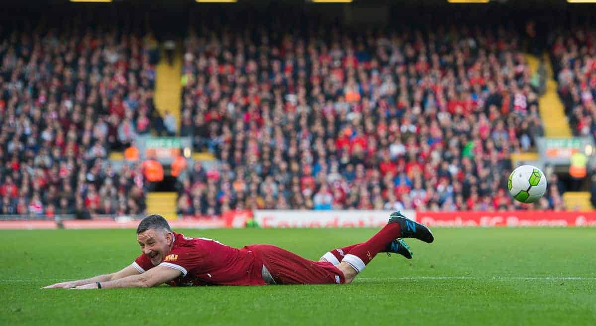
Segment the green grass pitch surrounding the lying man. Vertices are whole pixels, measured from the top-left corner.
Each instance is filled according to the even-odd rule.
[[[318,259],[373,229],[184,230]],[[116,271],[132,230],[0,231],[0,325],[596,325],[592,228],[437,228],[337,286],[39,290]],[[570,277],[575,277],[571,279]]]

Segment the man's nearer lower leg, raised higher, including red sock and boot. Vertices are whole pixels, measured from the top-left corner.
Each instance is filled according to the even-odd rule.
[[[352,247],[340,264],[337,265],[337,268],[344,273],[346,283],[350,283],[373,260],[377,253],[397,238],[415,238],[427,243],[434,241],[429,228],[409,220],[399,212],[395,212],[391,214],[389,223],[385,227],[367,242]]]

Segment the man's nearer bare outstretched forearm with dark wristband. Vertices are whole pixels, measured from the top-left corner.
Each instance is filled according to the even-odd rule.
[[[171,281],[182,274],[178,269],[166,266],[156,266],[147,272],[139,275],[131,275],[118,280],[101,282],[101,289],[111,289],[116,287],[153,287],[167,281]],[[97,289],[97,283],[85,284],[75,287],[77,290]]]

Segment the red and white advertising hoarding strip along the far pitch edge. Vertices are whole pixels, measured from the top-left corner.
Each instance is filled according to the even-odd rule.
[[[495,211],[495,212],[403,212],[429,227],[596,227],[596,211]],[[221,217],[182,217],[169,221],[172,228],[241,228],[254,217],[260,227],[381,227],[389,211],[231,211]],[[136,228],[139,220],[119,217],[116,220],[63,220],[60,227]],[[5,220],[0,230],[55,229],[51,220]]]

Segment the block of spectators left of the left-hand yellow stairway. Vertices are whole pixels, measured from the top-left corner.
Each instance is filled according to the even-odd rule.
[[[157,121],[156,61],[155,39],[115,27],[2,37],[0,215],[144,212],[138,166],[107,157]]]

